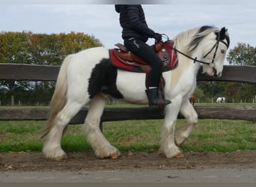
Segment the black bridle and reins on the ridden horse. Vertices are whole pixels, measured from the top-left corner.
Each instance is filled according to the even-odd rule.
[[[211,62],[199,61],[199,60],[197,59],[197,57],[192,58],[191,56],[186,55],[184,52],[181,52],[180,50],[178,50],[178,49],[177,49],[176,47],[174,47],[174,46],[169,46],[169,47],[171,47],[172,49],[174,49],[176,52],[179,52],[181,55],[186,56],[186,58],[189,58],[189,59],[193,60],[193,61],[194,61],[194,64],[195,64],[195,62],[199,62],[199,63],[201,63],[201,64],[207,64],[207,65],[209,65],[211,68],[213,68],[213,67],[215,67],[214,61],[215,61],[215,58],[216,58],[217,50],[218,50],[218,48],[219,48],[219,43],[220,43],[220,42],[221,42],[221,43],[224,43],[225,46],[227,46],[227,48],[229,47],[229,37],[228,37],[228,35],[225,34],[225,38],[224,38],[224,39],[221,39],[221,38],[220,38],[220,35],[221,35],[221,34],[220,34],[220,31],[219,31],[219,32],[216,32],[215,34],[216,34],[216,43],[213,45],[213,47],[210,49],[210,51],[207,52],[206,55],[204,55],[204,58],[206,58],[207,55],[209,55],[211,52],[213,52],[213,49],[215,49],[214,54],[213,54],[213,59],[212,59]],[[162,34],[162,35],[165,35],[165,37],[168,37],[166,34]],[[225,39],[227,40],[227,43],[224,41]]]

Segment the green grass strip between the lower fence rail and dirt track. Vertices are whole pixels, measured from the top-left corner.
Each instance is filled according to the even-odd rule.
[[[177,126],[185,120],[178,120]],[[0,121],[0,151],[40,151],[38,132],[45,121]],[[188,151],[256,150],[256,123],[245,120],[199,120],[182,149]],[[157,150],[162,120],[127,120],[103,123],[110,143],[121,151]],[[82,126],[69,126],[61,141],[67,152],[91,151]]]

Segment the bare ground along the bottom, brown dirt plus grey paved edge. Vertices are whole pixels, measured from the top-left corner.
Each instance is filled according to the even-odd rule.
[[[119,159],[67,156],[55,162],[42,153],[0,153],[0,183],[256,183],[256,150],[185,153],[182,159],[157,152],[123,153]]]

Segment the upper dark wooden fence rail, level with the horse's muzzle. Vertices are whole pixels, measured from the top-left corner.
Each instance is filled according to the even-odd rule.
[[[0,64],[0,79],[56,81],[58,66],[30,64]],[[199,70],[198,81],[228,81],[256,83],[256,66],[224,66],[222,77],[206,76]]]

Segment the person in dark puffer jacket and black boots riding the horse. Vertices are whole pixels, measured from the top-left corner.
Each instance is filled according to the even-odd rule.
[[[158,85],[162,74],[162,61],[146,42],[149,37],[160,41],[162,34],[148,28],[141,4],[115,4],[115,10],[120,13],[119,21],[123,28],[124,46],[150,64],[149,88],[146,90],[146,94],[149,105],[158,105]],[[171,103],[170,100],[163,99],[164,106],[169,103]]]

